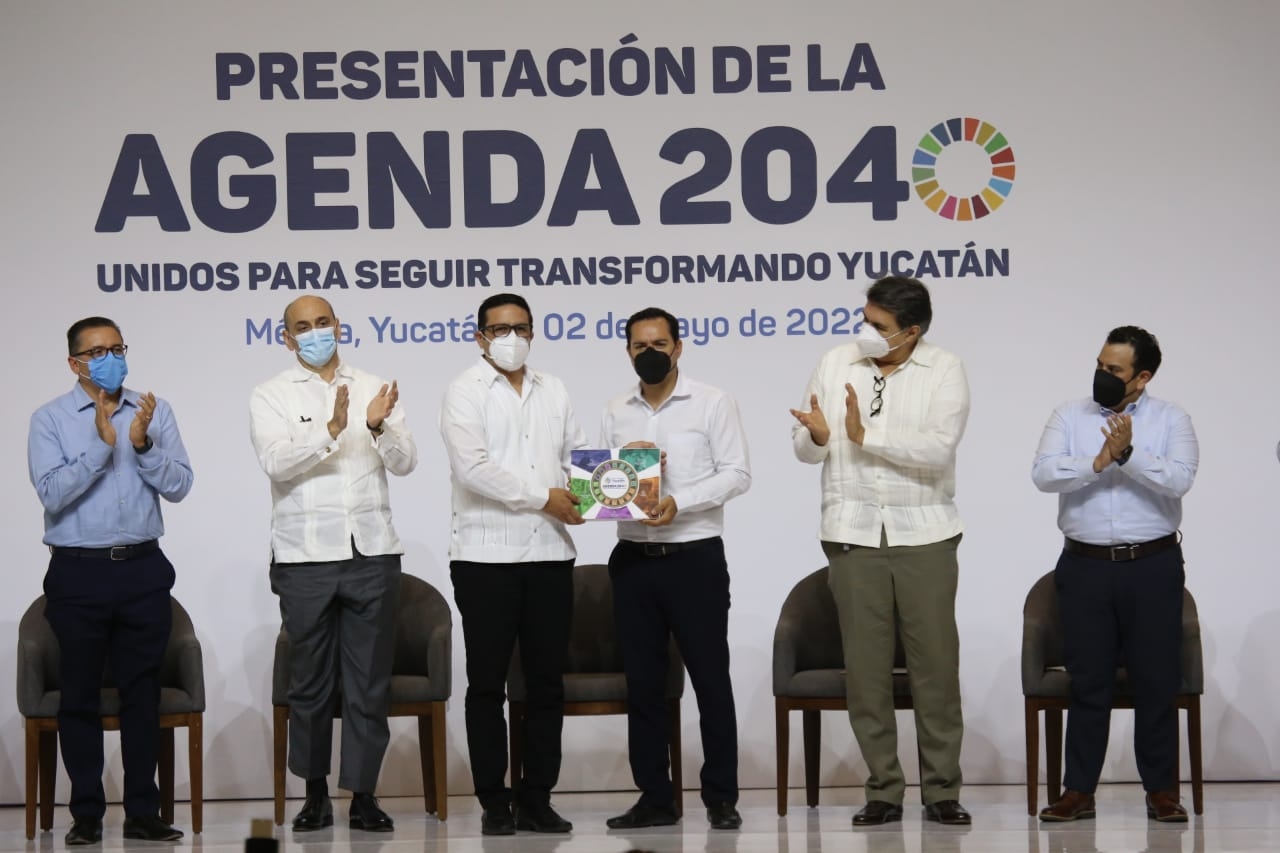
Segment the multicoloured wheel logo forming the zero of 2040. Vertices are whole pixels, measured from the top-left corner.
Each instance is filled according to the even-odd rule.
[[[938,161],[951,160],[955,154],[964,152],[961,143],[977,146],[991,163],[991,174],[986,186],[978,192],[965,196],[951,193],[938,182]],[[946,165],[946,164],[945,164]],[[943,169],[947,182],[956,188],[952,169]],[[968,169],[960,168],[961,172]],[[943,219],[968,222],[991,215],[1005,204],[1014,188],[1014,150],[1009,140],[995,127],[975,118],[954,118],[934,124],[915,147],[911,158],[911,183],[920,200]]]

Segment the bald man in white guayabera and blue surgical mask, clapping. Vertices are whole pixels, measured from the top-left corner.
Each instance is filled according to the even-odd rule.
[[[289,304],[284,342],[294,364],[253,389],[250,437],[271,480],[271,589],[289,635],[289,770],[307,781],[293,829],[333,826],[328,775],[340,685],[338,786],[353,794],[351,827],[389,833],[374,789],[390,739],[404,548],[387,473],[412,471],[417,447],[396,382],[342,361],[340,329],[326,300]]]

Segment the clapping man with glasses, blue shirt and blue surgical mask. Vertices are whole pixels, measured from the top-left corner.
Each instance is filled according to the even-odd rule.
[[[58,729],[72,780],[67,844],[102,839],[100,689],[110,657],[120,692],[124,838],[172,841],[160,818],[157,672],[169,640],[173,565],[160,551],[160,498],[191,491],[169,405],[124,388],[124,339],[91,316],[67,330],[76,386],[31,416],[27,462],[45,507],[45,617],[61,649]]]

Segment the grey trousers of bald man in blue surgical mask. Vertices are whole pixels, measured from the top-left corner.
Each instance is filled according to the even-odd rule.
[[[271,564],[271,590],[289,634],[289,770],[329,775],[340,685],[338,786],[374,793],[390,740],[392,662],[399,610],[398,555]]]

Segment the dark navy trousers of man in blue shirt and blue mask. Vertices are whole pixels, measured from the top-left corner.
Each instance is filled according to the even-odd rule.
[[[72,817],[101,818],[102,672],[120,692],[124,813],[160,813],[160,661],[173,621],[173,565],[161,551],[137,560],[54,556],[45,574],[45,619],[61,651],[58,733],[72,781]]]

